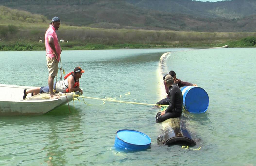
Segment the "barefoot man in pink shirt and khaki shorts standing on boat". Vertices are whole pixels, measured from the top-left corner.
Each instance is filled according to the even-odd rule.
[[[48,85],[50,89],[50,99],[60,98],[53,92],[53,80],[58,73],[58,64],[60,60],[61,48],[56,31],[60,27],[59,17],[53,17],[50,27],[45,33],[46,63],[49,70]]]

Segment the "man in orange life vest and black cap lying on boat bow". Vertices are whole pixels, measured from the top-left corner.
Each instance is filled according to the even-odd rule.
[[[55,92],[76,92],[79,91],[81,94],[83,94],[83,90],[79,87],[79,79],[82,76],[82,73],[84,73],[84,70],[82,70],[80,67],[76,67],[74,71],[68,73],[66,76],[64,76],[63,81],[54,82],[53,89]],[[27,94],[31,93],[31,96],[37,95],[39,93],[49,93],[49,85],[42,86],[42,87],[36,87],[33,89],[24,89],[23,99],[26,98]]]

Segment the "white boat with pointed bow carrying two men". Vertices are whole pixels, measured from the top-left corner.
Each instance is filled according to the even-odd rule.
[[[24,89],[31,88],[35,87],[0,84],[0,116],[42,115],[76,97],[74,93],[66,93],[59,94],[59,99],[49,99],[47,93],[34,96],[30,93],[23,99]]]

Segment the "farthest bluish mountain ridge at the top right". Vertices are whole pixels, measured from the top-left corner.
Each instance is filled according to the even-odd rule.
[[[242,18],[256,14],[255,0],[201,2],[195,0],[126,0],[136,7],[209,18]]]

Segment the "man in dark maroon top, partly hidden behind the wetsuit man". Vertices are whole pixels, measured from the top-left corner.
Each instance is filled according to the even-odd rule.
[[[197,84],[191,84],[189,82],[185,82],[185,81],[181,81],[180,79],[177,78],[176,73],[172,70],[170,71],[168,74],[170,74],[172,76],[172,78],[174,79],[174,84],[177,85],[179,88],[183,87],[183,86],[197,86]],[[165,76],[167,76],[168,74],[166,74]],[[163,76],[163,80],[165,80],[165,76]],[[157,105],[168,105],[169,104],[169,100],[170,100],[170,96],[168,94],[168,90],[169,87],[166,85],[165,81],[163,82],[163,84],[165,85],[165,92],[167,93],[167,97],[158,101],[156,104]]]

